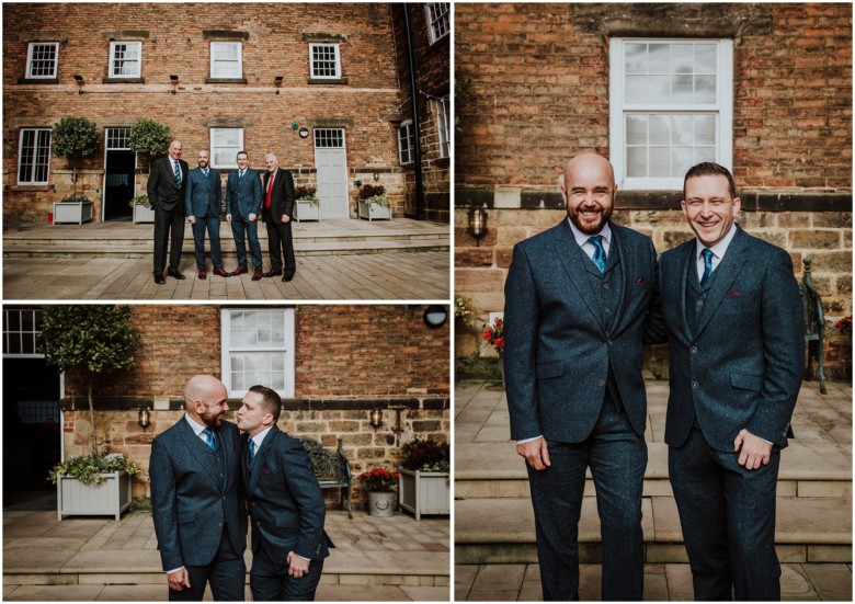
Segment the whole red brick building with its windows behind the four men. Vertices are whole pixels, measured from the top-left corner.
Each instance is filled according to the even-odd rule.
[[[433,35],[431,27],[445,32],[433,41],[445,50],[433,52],[428,76],[415,64],[417,81],[442,98],[448,4],[411,7],[412,39]],[[437,11],[438,22],[426,19]],[[182,141],[191,167],[198,149],[209,149],[224,180],[238,150],[255,168],[275,152],[298,185],[318,187],[324,218],[356,216],[354,182],[362,181],[387,189],[395,215],[447,221],[447,170],[431,180],[447,123],[422,129],[431,164],[421,206],[409,185],[415,164],[399,155],[410,86],[395,12],[384,3],[4,5],[4,218],[46,221],[53,203],[72,192],[49,130],[75,116],[94,122],[102,140],[78,179],[95,220],[126,218],[128,200],[145,194],[147,162],[127,137],[134,122],[153,118]],[[442,118],[434,113],[434,123]]]

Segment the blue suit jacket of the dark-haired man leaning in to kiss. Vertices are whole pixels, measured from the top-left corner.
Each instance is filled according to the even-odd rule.
[[[288,551],[311,560],[329,556],[327,504],[306,449],[274,425],[250,463],[248,440],[241,436],[253,554],[263,547],[283,565]]]

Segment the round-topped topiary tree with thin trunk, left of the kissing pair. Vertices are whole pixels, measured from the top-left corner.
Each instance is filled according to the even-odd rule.
[[[48,365],[60,373],[79,371],[86,376],[93,457],[99,453],[92,387],[98,375],[135,365],[139,334],[129,319],[127,305],[56,305],[46,306],[42,314],[38,350]]]

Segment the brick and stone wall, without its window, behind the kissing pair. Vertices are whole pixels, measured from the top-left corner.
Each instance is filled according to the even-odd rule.
[[[423,312],[418,305],[297,307],[296,392],[284,401],[280,428],[331,449],[343,437],[354,474],[374,465],[397,467],[396,407],[401,408],[401,443],[447,442],[451,330],[447,324],[428,329]],[[99,446],[124,452],[147,469],[151,440],[183,414],[187,379],[220,375],[219,307],[135,305],[132,317],[142,337],[137,365],[99,378],[96,436]],[[69,372],[65,387],[65,454],[81,455],[91,434],[86,386]],[[167,402],[156,404],[156,398]],[[140,407],[155,409],[147,430],[137,422]],[[229,407],[228,419],[235,421],[240,400],[229,400]],[[368,413],[376,408],[384,411],[384,424],[374,430]],[[144,481],[135,488],[141,494]]]

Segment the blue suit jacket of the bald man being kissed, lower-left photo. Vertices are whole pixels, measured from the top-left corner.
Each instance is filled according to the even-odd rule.
[[[216,437],[225,466],[185,418],[151,443],[151,506],[163,570],[209,563],[224,522],[235,551],[247,549],[240,435],[235,424],[223,422]]]

